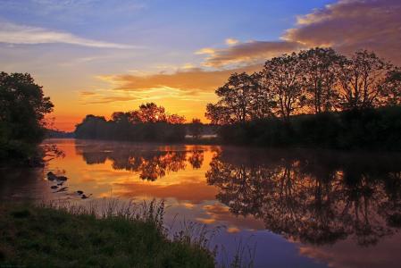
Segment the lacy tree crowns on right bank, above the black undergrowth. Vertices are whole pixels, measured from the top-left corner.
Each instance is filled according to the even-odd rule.
[[[206,106],[213,124],[227,125],[301,113],[363,110],[401,103],[399,68],[373,52],[347,58],[316,47],[283,54],[254,74],[233,73]]]

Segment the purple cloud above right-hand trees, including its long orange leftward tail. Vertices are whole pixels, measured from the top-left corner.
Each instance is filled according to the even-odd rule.
[[[297,25],[280,41],[253,41],[226,48],[204,48],[205,66],[223,67],[263,62],[272,56],[314,46],[332,46],[351,54],[368,49],[401,63],[401,2],[399,0],[340,0],[297,18]],[[230,45],[230,44],[228,44]]]

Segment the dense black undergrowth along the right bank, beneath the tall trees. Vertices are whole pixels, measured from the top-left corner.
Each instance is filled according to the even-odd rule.
[[[401,107],[302,114],[221,126],[226,143],[270,147],[401,150]]]

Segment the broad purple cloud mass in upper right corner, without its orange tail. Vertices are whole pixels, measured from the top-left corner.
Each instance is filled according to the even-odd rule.
[[[283,38],[308,47],[333,46],[346,54],[373,50],[401,63],[400,13],[398,0],[343,0],[298,17],[297,28]]]

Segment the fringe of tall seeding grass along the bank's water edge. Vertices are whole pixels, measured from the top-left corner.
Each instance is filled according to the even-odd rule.
[[[166,206],[164,200],[133,200],[122,201],[117,198],[103,198],[101,200],[89,200],[85,205],[72,203],[69,200],[53,200],[38,203],[39,207],[51,208],[71,215],[90,215],[97,219],[123,219],[132,222],[149,223],[165,237],[169,237],[174,243],[194,248],[197,251],[213,255],[214,264],[220,268],[252,268],[255,260],[255,246],[251,247],[249,241],[239,239],[235,241],[235,252],[230,253],[223,245],[216,245],[214,239],[225,226],[210,228],[205,223],[182,220],[178,228],[174,222],[166,226],[164,214]],[[220,256],[220,259],[217,259]]]

